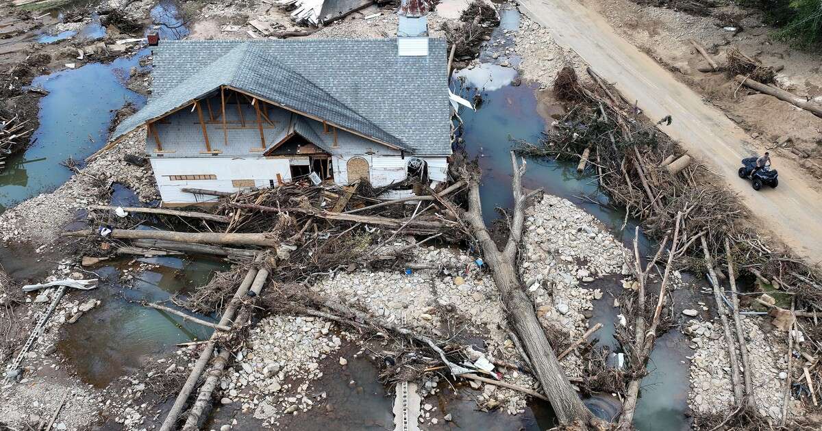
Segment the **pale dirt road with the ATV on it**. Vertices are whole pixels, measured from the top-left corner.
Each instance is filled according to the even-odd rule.
[[[652,120],[672,115],[663,130],[688,153],[724,178],[727,187],[755,214],[757,226],[782,240],[809,264],[822,259],[822,194],[812,177],[792,160],[775,158],[777,189],[755,191],[737,177],[741,158],[764,149],[723,112],[704,103],[652,58],[618,36],[596,12],[575,0],[520,0],[520,10],[549,29],[556,42],[571,48]],[[684,43],[684,41],[683,41]]]

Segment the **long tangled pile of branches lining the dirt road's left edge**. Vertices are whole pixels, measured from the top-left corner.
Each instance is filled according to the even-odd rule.
[[[812,268],[763,241],[745,222],[742,205],[717,186],[712,172],[640,117],[616,89],[593,71],[589,74],[598,85],[584,85],[570,66],[560,72],[554,92],[566,101],[568,113],[540,142],[520,142],[517,151],[577,161],[589,149],[588,160],[598,172],[600,186],[614,204],[642,220],[649,236],[662,238],[672,231],[677,212],[683,214],[677,254],[681,264],[704,272],[700,237],[705,237],[712,254],[723,256],[727,236],[744,268],[778,276],[777,286],[796,295],[797,307],[822,309],[822,283]],[[665,117],[657,124],[668,121],[676,119]]]

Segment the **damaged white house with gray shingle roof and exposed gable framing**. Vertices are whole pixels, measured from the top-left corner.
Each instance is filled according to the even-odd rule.
[[[451,154],[446,41],[427,38],[424,13],[399,30],[398,39],[160,41],[154,93],[112,140],[147,128],[166,206],[204,200],[187,188],[233,192],[312,173],[436,186]]]

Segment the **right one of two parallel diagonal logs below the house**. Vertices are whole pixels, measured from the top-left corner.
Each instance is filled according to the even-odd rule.
[[[257,273],[252,287],[249,289],[249,293],[253,292],[254,295],[251,298],[250,304],[242,305],[238,318],[234,320],[235,325],[242,326],[243,322],[247,322],[248,319],[251,318],[254,302],[260,297],[262,287],[266,283],[266,277],[268,277],[268,271],[266,271],[266,269],[261,269],[260,272]],[[230,356],[231,350],[228,346],[223,346],[223,349],[219,351],[219,355],[212,361],[211,369],[208,371],[208,377],[205,378],[205,383],[202,384],[200,392],[197,393],[197,398],[196,401],[194,401],[192,410],[188,412],[186,424],[182,426],[183,431],[200,429],[202,422],[208,417],[212,401],[211,394],[214,393],[215,388],[219,384],[219,379],[222,377],[226,365],[229,364]]]

